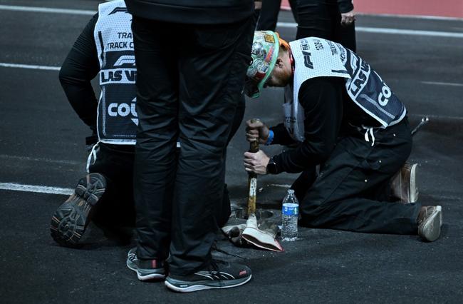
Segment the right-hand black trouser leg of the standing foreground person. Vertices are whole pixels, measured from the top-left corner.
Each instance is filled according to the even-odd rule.
[[[224,192],[224,150],[250,61],[254,22],[185,25],[180,54],[180,155],[172,209],[170,275],[211,263],[214,210]]]

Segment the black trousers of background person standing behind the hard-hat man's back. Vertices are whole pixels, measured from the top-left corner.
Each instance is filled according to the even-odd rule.
[[[296,6],[296,39],[320,37],[338,42],[355,52],[355,22],[349,26],[340,25],[341,16],[336,0],[297,0]]]

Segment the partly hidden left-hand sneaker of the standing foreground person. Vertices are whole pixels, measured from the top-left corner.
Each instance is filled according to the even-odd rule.
[[[138,280],[155,280],[165,278],[164,261],[139,260],[137,248],[129,250],[127,255],[127,267],[137,273]]]

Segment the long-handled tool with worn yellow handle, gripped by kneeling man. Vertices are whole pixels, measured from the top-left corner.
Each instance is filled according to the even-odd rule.
[[[251,122],[255,123],[258,119],[252,119]],[[249,152],[259,152],[259,141],[253,141],[249,145]],[[278,240],[275,239],[275,234],[267,231],[260,230],[257,226],[256,218],[256,192],[257,192],[257,174],[249,172],[248,176],[248,219],[246,221],[246,228],[242,233],[242,238],[249,243],[256,245],[259,248],[264,248],[273,251],[283,251]]]

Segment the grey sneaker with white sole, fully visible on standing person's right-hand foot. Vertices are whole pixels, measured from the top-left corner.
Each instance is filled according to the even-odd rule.
[[[165,285],[180,293],[191,293],[197,290],[236,287],[246,284],[251,277],[251,269],[245,265],[212,260],[211,265],[192,275],[170,274],[165,280]]]

